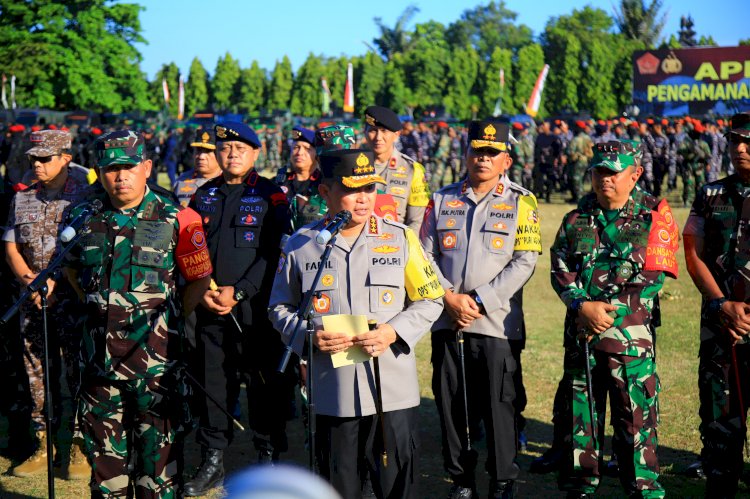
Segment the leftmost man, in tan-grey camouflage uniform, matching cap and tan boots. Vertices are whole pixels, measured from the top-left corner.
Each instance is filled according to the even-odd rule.
[[[70,167],[71,137],[62,130],[32,132],[29,137],[31,149],[26,151],[37,182],[18,192],[10,206],[8,229],[3,240],[8,265],[22,286],[30,284],[36,275],[47,268],[60,249],[59,234],[65,228],[64,220],[70,210],[85,200],[90,193],[84,168]],[[60,394],[62,350],[65,378],[71,394],[78,391],[80,374],[78,354],[81,335],[75,327],[77,298],[65,280],[47,281],[47,297],[50,303],[47,312],[52,372],[50,384],[53,406],[53,430],[60,425],[62,396]],[[47,469],[47,447],[44,426],[44,332],[40,313],[41,297],[32,296],[21,307],[21,335],[24,342],[24,363],[29,377],[33,401],[32,425],[41,445],[27,461],[13,469],[16,476],[30,476]],[[80,443],[71,449],[68,470],[73,478],[87,478],[89,468],[80,452]]]

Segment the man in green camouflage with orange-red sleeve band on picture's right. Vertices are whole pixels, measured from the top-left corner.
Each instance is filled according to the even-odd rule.
[[[552,287],[568,310],[563,345],[571,402],[563,419],[572,424],[572,448],[564,454],[559,486],[569,497],[592,494],[599,485],[607,394],[620,482],[629,495],[664,496],[650,326],[665,274],[677,277],[679,233],[666,201],[651,208],[636,195],[642,169],[635,153],[632,143],[597,145],[594,193],[565,215],[551,250]],[[587,341],[588,358],[582,348]],[[593,393],[587,389],[587,363]]]

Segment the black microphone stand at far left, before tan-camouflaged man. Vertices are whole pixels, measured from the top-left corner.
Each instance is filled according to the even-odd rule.
[[[84,226],[85,227],[85,226]],[[29,297],[39,292],[42,299],[42,333],[44,334],[44,427],[47,432],[47,494],[50,499],[55,499],[55,474],[53,467],[53,449],[52,449],[52,390],[50,387],[50,351],[49,351],[49,333],[47,330],[47,279],[56,278],[59,275],[60,267],[68,252],[78,243],[78,241],[88,230],[80,230],[68,242],[67,246],[61,246],[60,253],[47,266],[46,269],[39,272],[33,281],[21,293],[18,300],[0,317],[0,325],[7,324],[8,321],[18,312],[21,305]]]

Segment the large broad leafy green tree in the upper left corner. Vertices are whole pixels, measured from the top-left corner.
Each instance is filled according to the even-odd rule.
[[[0,53],[22,107],[150,109],[142,7],[107,0],[0,0]]]

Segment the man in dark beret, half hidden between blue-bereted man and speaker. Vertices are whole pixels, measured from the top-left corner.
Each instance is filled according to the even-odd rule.
[[[292,228],[299,229],[320,220],[326,214],[325,200],[318,194],[320,169],[315,149],[315,132],[292,128],[292,154],[289,166],[279,168],[275,183],[286,194],[292,216]]]

